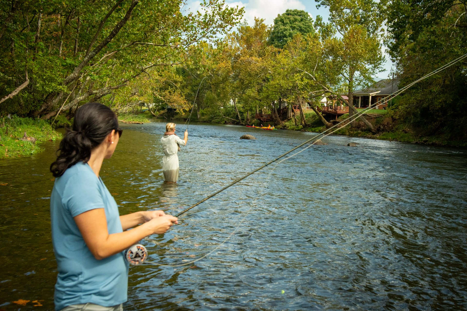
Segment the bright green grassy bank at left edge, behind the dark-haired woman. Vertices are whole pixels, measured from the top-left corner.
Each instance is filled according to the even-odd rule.
[[[44,120],[15,115],[0,118],[0,159],[35,154],[41,150],[41,142],[61,137]]]

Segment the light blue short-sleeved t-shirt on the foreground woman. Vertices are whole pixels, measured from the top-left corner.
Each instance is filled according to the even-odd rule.
[[[50,198],[58,265],[55,310],[71,304],[110,307],[127,301],[128,263],[124,253],[97,260],[73,219],[96,208],[104,208],[109,234],[123,231],[117,203],[87,163],[79,162],[57,177]]]

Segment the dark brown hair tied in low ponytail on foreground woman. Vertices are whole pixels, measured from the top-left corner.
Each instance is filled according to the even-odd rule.
[[[57,160],[50,164],[54,177],[79,161],[87,163],[91,150],[99,146],[112,130],[118,128],[115,113],[99,103],[87,103],[76,110],[73,128],[67,129],[57,150]]]

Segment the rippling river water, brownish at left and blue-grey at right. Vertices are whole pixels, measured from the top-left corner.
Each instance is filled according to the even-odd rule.
[[[190,125],[179,183],[170,185],[162,183],[164,126],[122,125],[101,170],[121,214],[175,214],[313,135]],[[151,261],[189,264],[130,268],[125,310],[467,309],[466,150],[323,141],[144,240]],[[57,147],[0,161],[0,309],[53,310],[48,167]]]

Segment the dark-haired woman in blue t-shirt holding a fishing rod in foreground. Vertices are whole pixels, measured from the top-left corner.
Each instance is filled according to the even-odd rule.
[[[177,218],[163,211],[119,216],[99,171],[104,159],[112,156],[121,133],[110,108],[85,104],[78,108],[72,130],[60,142],[57,161],[50,165],[57,177],[50,198],[58,265],[57,311],[123,310],[128,283],[124,251],[177,223]]]

